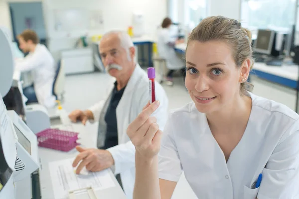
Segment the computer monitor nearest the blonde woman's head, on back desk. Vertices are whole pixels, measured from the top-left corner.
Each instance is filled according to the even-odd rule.
[[[275,31],[273,30],[258,30],[257,39],[253,45],[253,51],[266,55],[271,55]]]

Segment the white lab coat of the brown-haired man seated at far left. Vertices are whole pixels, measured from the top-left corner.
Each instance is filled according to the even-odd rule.
[[[32,71],[38,103],[47,108],[55,106],[56,98],[52,93],[55,68],[51,53],[42,44],[37,44],[34,52],[30,52],[25,58],[17,59],[15,62],[15,70]]]

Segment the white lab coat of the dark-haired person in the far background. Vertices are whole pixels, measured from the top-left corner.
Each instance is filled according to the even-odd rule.
[[[175,38],[171,38],[170,30],[168,28],[159,29],[157,42],[159,57],[166,59],[168,69],[183,68],[185,66],[184,61],[176,55],[174,47],[169,46],[169,43],[175,43]]]

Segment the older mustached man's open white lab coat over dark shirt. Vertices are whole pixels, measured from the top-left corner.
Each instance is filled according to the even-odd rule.
[[[89,110],[92,111],[94,120],[99,121],[99,129],[105,131],[104,117],[107,107],[110,103],[111,92],[114,88],[112,81],[108,83],[108,95],[105,95],[104,100],[92,106]],[[154,112],[157,118],[157,123],[160,129],[163,130],[166,124],[168,111],[168,98],[162,86],[155,83],[156,99],[160,101],[160,107]],[[125,88],[123,96],[116,108],[117,129],[118,129],[118,145],[109,148],[108,151],[114,158],[114,173],[120,174],[124,191],[128,199],[132,199],[133,188],[135,182],[135,147],[127,136],[128,125],[138,116],[143,107],[149,101],[149,79],[146,72],[137,64],[130,80]],[[98,135],[99,142],[104,143],[105,137]],[[101,145],[101,144],[100,144]]]

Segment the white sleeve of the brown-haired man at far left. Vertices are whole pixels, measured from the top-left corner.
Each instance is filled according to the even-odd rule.
[[[27,55],[23,59],[17,59],[15,61],[15,69],[18,71],[30,71],[38,66],[42,65],[44,57],[42,52],[34,52],[32,55]]]

